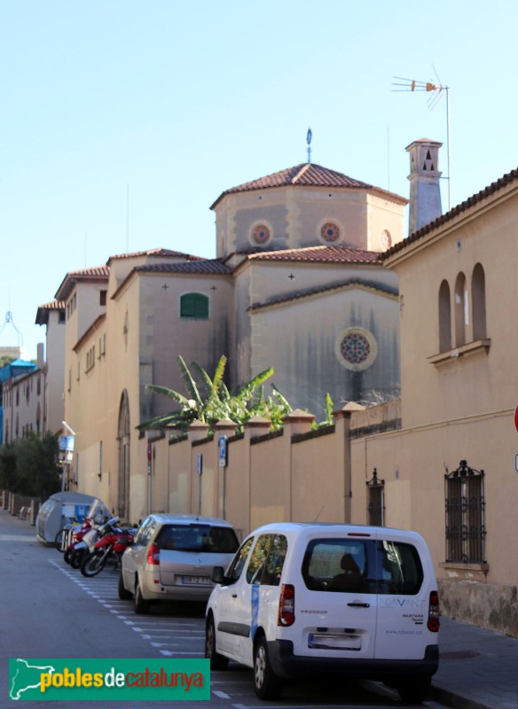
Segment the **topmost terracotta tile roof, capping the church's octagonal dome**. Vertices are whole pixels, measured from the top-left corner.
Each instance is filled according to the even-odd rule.
[[[387,199],[391,199],[402,204],[407,203],[407,199],[396,195],[394,192],[381,190],[373,184],[363,183],[360,180],[354,180],[348,175],[343,175],[341,172],[322,168],[320,165],[315,165],[312,162],[301,163],[295,165],[294,168],[287,168],[280,172],[260,177],[258,180],[253,180],[249,183],[239,184],[237,187],[232,187],[225,190],[216,199],[216,202],[210,207],[214,209],[218,202],[221,201],[227,194],[236,194],[239,192],[249,192],[255,190],[268,190],[273,187],[286,187],[288,185],[300,185],[302,187],[327,187],[340,189],[359,189],[380,192]]]

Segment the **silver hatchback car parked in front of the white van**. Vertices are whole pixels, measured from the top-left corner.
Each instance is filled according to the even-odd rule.
[[[119,598],[133,596],[136,613],[156,601],[207,601],[214,566],[226,568],[238,547],[224,519],[151,514],[122,554]]]

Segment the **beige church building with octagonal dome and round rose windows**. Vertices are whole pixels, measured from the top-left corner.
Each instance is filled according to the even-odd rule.
[[[231,389],[272,367],[318,420],[326,393],[334,408],[395,399],[400,306],[381,254],[404,238],[407,201],[308,162],[220,194],[214,259],[151,249],[68,273],[55,298],[77,434],[69,483],[106,485],[122,518],[138,508],[136,426],[175,407],[146,385],[184,392],[179,354],[209,374],[225,354]]]

